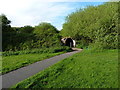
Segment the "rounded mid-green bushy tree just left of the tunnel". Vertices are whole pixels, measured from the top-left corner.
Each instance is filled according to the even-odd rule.
[[[50,23],[41,23],[35,27],[36,45],[39,47],[51,47],[60,45],[60,35],[57,29]]]

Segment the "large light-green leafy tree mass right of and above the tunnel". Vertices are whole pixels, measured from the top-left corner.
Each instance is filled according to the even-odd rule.
[[[82,47],[99,43],[103,49],[118,48],[118,15],[117,2],[88,6],[67,16],[61,34],[73,37]]]

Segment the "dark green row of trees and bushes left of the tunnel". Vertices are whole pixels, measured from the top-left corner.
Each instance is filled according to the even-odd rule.
[[[2,19],[1,19],[2,18]],[[3,51],[31,50],[61,46],[59,31],[50,23],[38,26],[11,27],[11,21],[5,15],[2,20]]]

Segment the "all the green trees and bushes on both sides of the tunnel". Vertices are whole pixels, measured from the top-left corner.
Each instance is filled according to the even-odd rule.
[[[117,49],[119,2],[107,2],[99,6],[79,9],[66,17],[60,34],[72,37],[77,47],[89,45],[101,49]],[[102,13],[101,13],[102,12]],[[60,46],[61,35],[50,23],[11,27],[10,20],[1,15],[3,28],[3,51],[18,51],[33,48]]]

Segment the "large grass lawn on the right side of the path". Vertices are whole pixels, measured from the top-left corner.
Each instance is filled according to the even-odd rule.
[[[118,88],[118,52],[84,50],[12,88]]]

